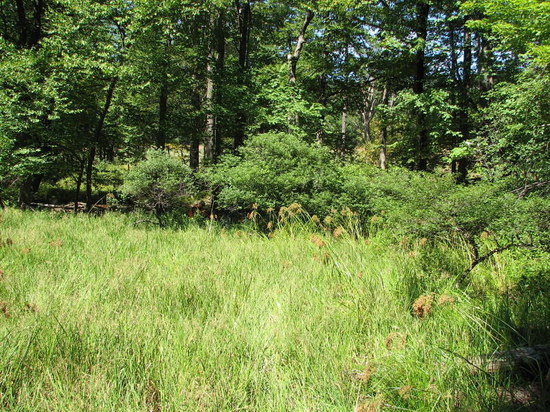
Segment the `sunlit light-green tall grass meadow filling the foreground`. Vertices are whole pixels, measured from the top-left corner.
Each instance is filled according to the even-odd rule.
[[[507,411],[465,359],[549,337],[511,253],[458,290],[465,251],[386,231],[1,218],[3,411]]]

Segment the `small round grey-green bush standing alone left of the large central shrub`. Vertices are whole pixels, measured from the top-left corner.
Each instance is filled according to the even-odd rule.
[[[126,174],[120,191],[157,218],[189,203],[196,193],[190,168],[162,150],[148,150],[146,159]]]

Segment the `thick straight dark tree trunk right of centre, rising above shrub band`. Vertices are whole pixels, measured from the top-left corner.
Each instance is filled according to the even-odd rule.
[[[412,84],[412,91],[417,95],[424,93],[424,78],[426,76],[426,38],[428,36],[428,16],[430,5],[428,3],[417,3],[417,41],[420,42],[415,56],[415,80]],[[418,148],[417,148],[417,170],[428,170],[428,130],[426,128],[426,114],[423,111],[415,110],[417,117]]]

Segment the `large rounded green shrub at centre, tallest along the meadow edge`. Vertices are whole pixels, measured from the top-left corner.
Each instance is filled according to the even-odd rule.
[[[327,148],[268,133],[249,139],[239,154],[223,156],[203,174],[221,207],[248,209],[257,203],[267,209],[300,203],[312,214],[322,214],[338,205],[342,181]]]

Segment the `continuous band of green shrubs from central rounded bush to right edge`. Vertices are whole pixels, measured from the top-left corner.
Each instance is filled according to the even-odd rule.
[[[221,207],[278,209],[299,203],[310,215],[349,207],[367,222],[377,216],[401,233],[468,238],[495,236],[548,244],[547,198],[519,198],[499,183],[456,185],[450,174],[419,174],[364,164],[340,165],[327,148],[284,133],[248,141],[202,174]]]

